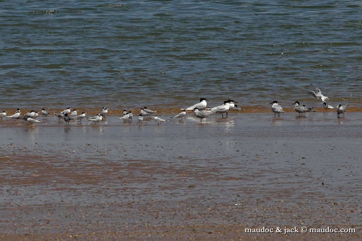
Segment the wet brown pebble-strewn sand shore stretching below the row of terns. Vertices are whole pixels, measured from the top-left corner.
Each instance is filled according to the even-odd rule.
[[[361,113],[304,115],[0,120],[0,240],[361,240]]]

